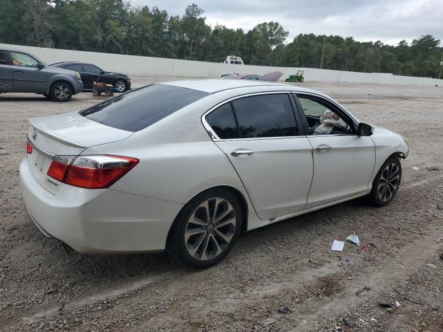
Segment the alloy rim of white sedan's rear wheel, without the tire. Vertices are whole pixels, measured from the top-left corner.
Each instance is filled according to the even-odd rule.
[[[233,239],[236,225],[235,210],[226,199],[204,201],[186,224],[184,240],[189,255],[199,260],[221,255]]]

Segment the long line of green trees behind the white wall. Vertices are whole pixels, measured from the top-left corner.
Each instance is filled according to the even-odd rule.
[[[206,24],[204,10],[189,5],[183,15],[123,0],[0,0],[0,42],[69,50],[245,64],[327,68],[341,71],[439,77],[443,47],[432,35],[409,45],[357,42],[352,37],[289,32],[278,22],[245,32]]]

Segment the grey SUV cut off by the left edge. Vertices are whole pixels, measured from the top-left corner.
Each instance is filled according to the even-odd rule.
[[[24,50],[0,49],[0,93],[40,93],[55,102],[67,102],[82,89],[75,71],[48,66]]]

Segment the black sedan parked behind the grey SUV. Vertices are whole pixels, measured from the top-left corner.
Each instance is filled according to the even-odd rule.
[[[131,79],[127,75],[104,71],[95,64],[88,64],[87,62],[57,62],[51,64],[51,66],[78,71],[82,77],[84,90],[92,90],[94,82],[112,84],[118,92],[125,92],[131,89]]]

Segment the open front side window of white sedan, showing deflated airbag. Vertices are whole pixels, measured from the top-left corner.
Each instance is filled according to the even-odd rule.
[[[349,134],[352,129],[332,107],[298,95],[311,135]]]

